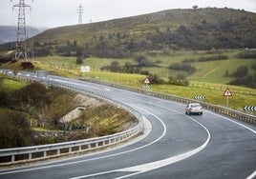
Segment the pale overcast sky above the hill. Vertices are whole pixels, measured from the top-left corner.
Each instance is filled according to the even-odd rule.
[[[19,0],[0,0],[0,26],[17,26]],[[26,25],[54,28],[78,24],[77,8],[83,7],[83,24],[171,9],[216,7],[256,12],[256,0],[25,0]]]

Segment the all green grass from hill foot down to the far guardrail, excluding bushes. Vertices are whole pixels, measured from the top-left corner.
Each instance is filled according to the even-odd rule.
[[[228,57],[227,60],[198,62],[197,59],[202,56],[211,56],[216,54],[209,54],[209,51],[194,51],[194,50],[179,50],[169,51],[169,55],[146,55],[148,59],[159,61],[157,68],[143,68],[151,73],[160,75],[161,78],[167,80],[168,76],[177,76],[182,71],[169,70],[168,67],[173,63],[181,63],[186,59],[195,59],[191,65],[196,67],[197,71],[187,75],[189,80],[189,87],[179,87],[171,85],[151,85],[151,90],[159,91],[167,94],[182,96],[186,98],[194,98],[195,95],[204,95],[205,102],[225,106],[226,101],[223,96],[224,90],[229,88],[233,94],[229,98],[229,107],[232,109],[243,110],[245,106],[256,106],[256,89],[248,89],[243,87],[236,87],[226,85],[232,80],[232,77],[225,77],[225,71],[229,74],[234,72],[238,67],[245,65],[249,69],[249,73],[255,73],[251,69],[255,59],[238,59],[236,56],[243,50],[224,50],[222,55]],[[36,58],[33,61],[35,70],[48,70],[49,73],[69,76],[72,78],[89,77],[103,81],[109,81],[122,85],[127,85],[135,88],[141,88],[146,78],[145,75],[140,74],[125,74],[114,73],[109,71],[100,71],[103,66],[109,66],[113,61],[118,61],[120,65],[126,62],[132,64],[137,63],[133,58],[127,59],[112,59],[112,58],[96,58],[89,57],[84,59],[82,65],[75,64],[75,57],[59,57],[49,56]],[[90,66],[91,70],[88,73],[81,73],[81,66]],[[3,67],[5,68],[5,67]],[[11,65],[9,68],[17,69],[17,65]],[[6,82],[7,83],[7,82]]]

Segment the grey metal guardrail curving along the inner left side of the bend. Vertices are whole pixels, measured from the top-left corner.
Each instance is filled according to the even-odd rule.
[[[0,72],[11,75],[10,70],[0,70]],[[17,76],[17,78],[23,78],[23,77]],[[71,142],[65,142],[65,143],[55,143],[50,145],[32,146],[32,147],[25,147],[25,148],[0,149],[0,160],[1,159],[5,160],[5,162],[1,163],[0,166],[6,165],[7,163],[13,163],[17,160],[22,162],[24,160],[28,161],[33,159],[42,159],[42,158],[45,159],[47,157],[60,156],[60,155],[71,153],[71,152],[80,152],[80,151],[87,151],[91,149],[105,148],[138,135],[139,132],[142,131],[142,129],[144,128],[142,115],[139,113],[139,111],[127,105],[124,105],[123,103],[117,100],[113,100],[105,95],[98,94],[96,92],[84,89],[82,86],[79,86],[79,85],[74,86],[70,83],[55,82],[55,81],[49,80],[49,78],[34,78],[33,80],[44,82],[51,86],[57,86],[64,89],[71,89],[78,92],[90,94],[92,96],[107,100],[134,114],[139,119],[139,124],[132,129],[128,129],[112,135],[96,137],[91,139],[71,141]]]

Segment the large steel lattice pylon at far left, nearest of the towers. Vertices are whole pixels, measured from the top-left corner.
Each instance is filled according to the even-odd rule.
[[[18,27],[17,27],[17,41],[16,41],[16,50],[15,50],[15,59],[19,58],[28,58],[27,54],[27,30],[26,30],[26,8],[31,6],[25,4],[25,0],[19,0],[18,4],[13,5],[12,10],[18,8]]]

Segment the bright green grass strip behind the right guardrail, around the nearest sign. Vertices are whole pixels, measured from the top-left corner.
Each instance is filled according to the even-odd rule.
[[[151,85],[151,90],[159,91],[176,96],[194,99],[195,95],[204,95],[204,102],[226,106],[224,97],[225,89],[230,89],[232,97],[229,97],[229,108],[243,111],[245,106],[256,104],[256,89],[246,89],[235,86],[223,86],[218,84],[201,83],[189,87],[170,86],[170,85]]]

